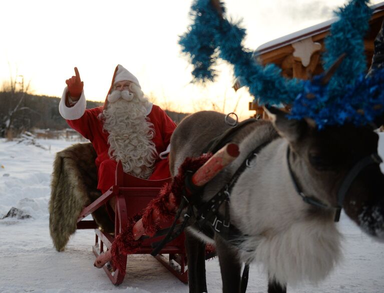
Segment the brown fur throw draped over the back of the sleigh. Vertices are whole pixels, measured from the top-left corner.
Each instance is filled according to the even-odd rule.
[[[74,144],[56,154],[51,182],[50,233],[58,251],[63,251],[76,231],[77,218],[97,199],[96,152],[92,143]],[[92,213],[97,224],[108,232],[114,225],[103,206]]]

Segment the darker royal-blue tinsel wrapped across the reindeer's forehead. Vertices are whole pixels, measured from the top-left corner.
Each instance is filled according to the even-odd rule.
[[[364,74],[347,84],[339,98],[330,100],[327,86],[320,83],[322,76],[304,81],[304,90],[294,100],[290,117],[310,117],[318,128],[325,125],[352,122],[355,125],[368,124],[382,114],[384,104],[384,70],[377,70],[371,77]],[[308,94],[311,98],[308,98]]]

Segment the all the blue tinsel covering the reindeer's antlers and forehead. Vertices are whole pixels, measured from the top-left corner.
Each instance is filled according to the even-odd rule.
[[[368,29],[371,9],[367,0],[351,0],[339,8],[339,20],[331,25],[325,41],[324,68],[328,69],[342,54],[346,57],[327,84],[322,76],[310,81],[287,79],[274,64],[261,66],[249,49],[242,46],[245,29],[231,23],[210,0],[196,0],[191,16],[194,23],[180,38],[182,51],[191,58],[195,80],[213,80],[218,57],[234,66],[234,75],[249,88],[259,104],[291,104],[290,117],[310,117],[317,126],[353,122],[369,123],[384,109],[384,71],[365,78],[363,36]],[[220,2],[221,12],[225,9]]]

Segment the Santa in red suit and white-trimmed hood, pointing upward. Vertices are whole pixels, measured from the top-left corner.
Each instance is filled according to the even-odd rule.
[[[104,106],[86,109],[84,83],[79,70],[66,80],[59,105],[68,124],[89,139],[97,153],[98,189],[115,183],[117,161],[124,171],[144,179],[170,176],[169,141],[176,127],[159,106],[141,90],[138,79],[117,65]]]

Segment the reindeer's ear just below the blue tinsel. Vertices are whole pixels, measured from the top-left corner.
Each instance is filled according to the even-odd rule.
[[[276,107],[264,106],[264,110],[271,117],[273,126],[277,132],[285,137],[289,142],[295,142],[308,128],[309,124],[303,120],[288,119],[287,112]]]

